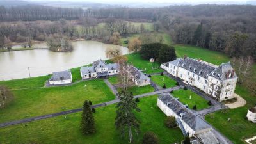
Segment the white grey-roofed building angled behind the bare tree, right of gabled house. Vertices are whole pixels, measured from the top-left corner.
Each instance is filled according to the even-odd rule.
[[[136,86],[147,86],[150,84],[150,78],[145,76],[138,68],[129,66],[129,77],[136,84]]]

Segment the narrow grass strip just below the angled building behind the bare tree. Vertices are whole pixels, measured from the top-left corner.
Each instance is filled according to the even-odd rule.
[[[122,88],[118,88],[118,92],[120,92],[122,90]],[[132,86],[127,88],[128,92],[132,92],[133,95],[141,95],[143,93],[150,93],[150,92],[154,92],[154,88],[152,88],[152,86],[147,85],[147,86]]]

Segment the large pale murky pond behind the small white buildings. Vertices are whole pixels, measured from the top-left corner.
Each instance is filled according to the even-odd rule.
[[[31,77],[36,77],[81,67],[99,59],[106,60],[106,48],[111,46],[95,41],[77,41],[72,44],[72,52],[51,52],[45,49],[0,52],[0,81],[29,77],[28,67]],[[45,43],[36,44],[36,48],[40,47],[45,47]],[[122,54],[129,54],[126,47],[116,47],[120,47]]]

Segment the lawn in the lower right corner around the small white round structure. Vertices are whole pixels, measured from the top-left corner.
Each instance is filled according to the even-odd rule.
[[[256,99],[255,95],[253,96],[252,93],[239,84],[237,84],[235,92],[246,100],[246,106],[217,111],[206,115],[205,120],[225,134],[233,143],[238,144],[244,143],[245,138],[256,136],[256,124],[246,120],[248,108],[255,106]],[[228,118],[231,119],[230,122],[228,122]]]

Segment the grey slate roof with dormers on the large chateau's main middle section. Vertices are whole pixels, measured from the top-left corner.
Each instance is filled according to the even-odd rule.
[[[193,72],[198,76],[204,77],[205,79],[207,79],[207,74],[210,74],[213,70],[216,69],[216,67],[213,67],[204,61],[195,60],[193,58],[185,58],[185,60],[179,63],[179,67]],[[189,67],[191,68],[189,69]]]

